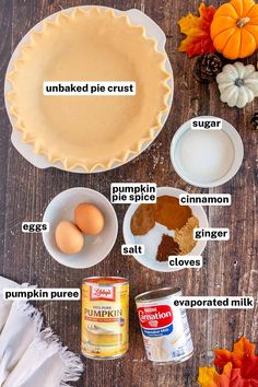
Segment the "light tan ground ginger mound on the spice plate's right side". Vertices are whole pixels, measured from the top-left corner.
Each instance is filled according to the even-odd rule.
[[[194,239],[196,227],[199,227],[199,221],[196,216],[191,216],[181,228],[176,230],[175,242],[179,245],[180,255],[187,255],[196,246],[197,241]]]

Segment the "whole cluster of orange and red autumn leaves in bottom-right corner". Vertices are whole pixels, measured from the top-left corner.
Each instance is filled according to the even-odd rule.
[[[258,387],[258,356],[255,344],[242,337],[233,352],[214,350],[215,367],[200,367],[201,387]]]

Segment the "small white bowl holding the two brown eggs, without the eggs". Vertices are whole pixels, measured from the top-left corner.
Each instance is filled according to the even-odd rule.
[[[104,214],[104,230],[95,236],[84,234],[84,246],[75,255],[63,254],[55,239],[59,222],[74,220],[74,209],[82,202],[96,206]],[[43,222],[49,223],[49,232],[43,233],[43,242],[50,256],[59,263],[74,269],[85,269],[101,262],[112,250],[118,232],[116,212],[112,203],[102,194],[90,188],[71,188],[57,195],[47,206]]]

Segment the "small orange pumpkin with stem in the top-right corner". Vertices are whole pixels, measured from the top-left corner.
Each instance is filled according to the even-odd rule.
[[[222,4],[211,23],[211,38],[225,58],[245,58],[258,48],[258,4],[231,0]]]

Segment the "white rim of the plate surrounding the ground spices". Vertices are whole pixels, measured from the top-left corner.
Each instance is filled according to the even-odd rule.
[[[176,198],[179,198],[179,195],[186,194],[181,189],[173,188],[173,187],[159,187],[156,190],[157,197],[160,196],[174,196]],[[134,235],[131,233],[131,218],[133,213],[136,212],[137,208],[140,204],[131,204],[124,218],[124,225],[122,225],[122,232],[124,232],[124,239],[126,244],[136,244]],[[208,224],[208,219],[207,214],[201,206],[189,206],[192,214],[199,220],[199,227],[209,227]],[[207,245],[207,241],[198,241],[194,249],[191,250],[188,256],[200,256],[202,251],[204,250]],[[161,271],[161,272],[171,272],[171,271],[178,271],[183,269],[175,269],[175,268],[169,268],[167,262],[159,262],[157,260],[150,259],[146,255],[133,255],[133,258],[138,260],[141,265],[145,266],[146,268],[155,271]]]

